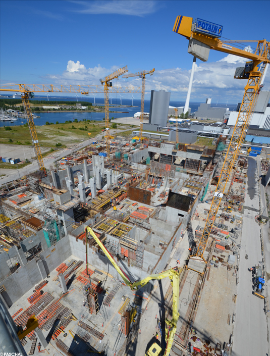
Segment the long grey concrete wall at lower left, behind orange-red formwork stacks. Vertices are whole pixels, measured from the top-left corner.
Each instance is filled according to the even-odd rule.
[[[0,257],[5,255],[1,253]],[[69,237],[66,236],[57,242],[55,245],[47,248],[40,253],[41,265],[45,274],[49,274],[52,270],[56,269],[62,262],[69,258],[71,255],[71,248]],[[40,262],[39,262],[40,263]],[[6,292],[3,297],[9,307],[12,306],[19,298],[26,292],[34,287],[36,283],[44,279],[40,273],[40,269],[35,259],[28,262],[25,266],[20,267],[15,273],[10,275],[0,285],[4,285]]]

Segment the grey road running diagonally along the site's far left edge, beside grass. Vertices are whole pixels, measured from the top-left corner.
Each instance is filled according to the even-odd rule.
[[[134,128],[130,128],[129,127],[126,130],[119,130],[119,129],[118,130],[117,129],[116,130],[112,130],[111,129],[110,130],[110,134],[115,134],[115,133],[120,134],[121,132],[130,131],[130,130],[136,130],[136,129],[138,129],[138,127],[134,127]],[[98,141],[98,140],[102,139],[102,136],[104,136],[103,132],[100,133],[99,135],[95,136],[93,139]],[[68,149],[64,149],[64,150],[60,150],[60,151],[55,151],[52,154],[53,155],[58,155],[59,154],[59,157],[58,158],[46,158],[46,157],[44,157],[44,159],[43,159],[44,166],[46,168],[49,168],[50,165],[52,165],[52,166],[54,165],[55,161],[60,160],[62,157],[69,156],[69,155],[72,154],[72,152],[78,151],[78,150],[80,150],[80,149],[82,149],[82,148],[84,148],[84,147],[86,147],[88,145],[89,145],[89,140],[86,140],[84,142],[78,143],[75,148],[72,148],[72,149],[68,148]],[[61,152],[61,154],[60,154],[60,152]],[[25,176],[25,175],[27,175],[29,173],[37,171],[37,170],[38,170],[38,164],[37,164],[37,161],[35,161],[34,164],[31,164],[31,165],[28,165],[28,166],[26,166],[24,168],[19,169],[19,172],[18,172],[18,170],[13,170],[13,172],[14,172],[14,173],[12,172],[13,174],[10,174],[8,177],[1,178],[0,179],[0,185],[3,185],[5,183],[8,183],[8,182],[14,181],[16,179],[19,179],[19,178],[21,178],[21,177],[23,177],[23,176]],[[9,170],[9,172],[10,172],[10,170]],[[4,169],[1,170],[1,173],[4,174],[5,170]],[[8,171],[7,171],[7,173],[8,173]]]

